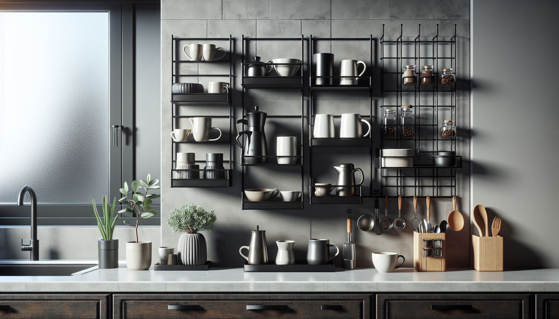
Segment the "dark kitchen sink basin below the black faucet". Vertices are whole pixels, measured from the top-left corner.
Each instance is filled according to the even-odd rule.
[[[0,265],[0,276],[70,276],[97,264]]]

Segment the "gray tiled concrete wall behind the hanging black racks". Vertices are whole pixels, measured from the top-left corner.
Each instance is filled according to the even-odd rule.
[[[312,237],[330,239],[330,243],[342,247],[345,240],[345,219],[348,217],[345,211],[350,208],[353,225],[357,218],[363,213],[372,213],[372,198],[364,198],[363,204],[357,205],[324,205],[308,203],[309,172],[308,164],[305,165],[304,179],[304,210],[241,210],[241,175],[239,156],[240,149],[234,146],[231,158],[233,165],[233,187],[231,188],[170,188],[169,170],[172,166],[172,143],[169,138],[171,126],[170,116],[172,106],[170,101],[170,85],[172,74],[172,41],[171,36],[176,37],[229,37],[232,35],[234,41],[234,80],[232,87],[233,107],[235,120],[241,118],[240,104],[240,63],[241,63],[241,36],[246,37],[300,37],[301,34],[308,38],[310,34],[314,37],[369,37],[375,38],[375,49],[373,56],[373,141],[375,147],[379,147],[380,136],[378,134],[381,118],[379,117],[378,103],[380,84],[380,60],[378,59],[378,39],[382,33],[382,24],[386,24],[386,34],[395,39],[399,35],[400,23],[404,25],[405,39],[413,39],[417,34],[418,24],[421,24],[422,35],[425,39],[432,39],[435,35],[435,25],[439,24],[439,35],[448,40],[453,35],[453,25],[457,24],[457,59],[456,72],[459,78],[459,92],[457,96],[457,125],[459,127],[459,141],[457,151],[464,156],[465,168],[458,170],[457,209],[463,212],[466,220],[469,219],[470,211],[470,177],[469,177],[469,133],[470,127],[470,6],[468,1],[401,1],[401,0],[377,0],[377,1],[342,1],[342,0],[206,0],[206,1],[179,1],[163,0],[161,7],[161,48],[162,48],[162,85],[161,85],[161,107],[162,107],[162,245],[177,247],[179,234],[171,234],[164,218],[171,211],[182,204],[196,203],[207,210],[214,210],[217,215],[216,229],[213,232],[202,232],[208,242],[209,260],[215,266],[241,266],[244,259],[238,254],[240,246],[248,245],[250,230],[257,225],[260,229],[267,231],[269,254],[275,259],[277,246],[276,240],[295,240],[295,258],[306,259],[307,239],[309,239],[309,225],[312,220]],[[178,59],[186,59],[182,53],[182,46],[192,42],[205,43],[203,41],[181,41],[177,45],[175,54]],[[248,48],[248,57],[259,55],[262,60],[275,58],[298,58],[300,56],[300,42],[264,42],[251,45]],[[226,46],[226,41],[210,41],[217,46]],[[331,52],[335,54],[336,64],[342,59],[359,59],[366,61],[369,65],[369,47],[357,42],[324,41],[315,48],[315,53]],[[299,45],[299,46],[298,46]],[[307,47],[305,42],[304,64],[307,64]],[[247,60],[248,61],[248,60]],[[215,65],[215,64],[212,64]],[[421,64],[424,65],[424,64]],[[418,65],[418,70],[421,65]],[[177,72],[181,74],[216,74],[219,69],[210,69],[208,64],[194,63],[182,64]],[[226,72],[227,70],[221,70]],[[308,76],[305,66],[305,76]],[[181,82],[196,82],[203,84],[207,89],[209,81],[225,81],[225,78],[196,77],[181,78]],[[308,85],[308,78],[305,78]],[[309,94],[305,90],[305,100]],[[334,112],[362,113],[368,114],[369,101],[366,93],[320,93],[315,95],[314,113]],[[388,103],[388,102],[386,102]],[[296,90],[250,90],[245,94],[245,107],[260,106],[260,109],[269,115],[297,115],[300,114],[300,92]],[[308,101],[305,101],[305,114],[308,110]],[[227,114],[226,107],[180,107],[182,115],[223,115]],[[228,127],[222,119],[214,120],[213,126],[222,130]],[[305,116],[305,135],[302,142],[305,146],[305,163],[309,162],[308,145],[308,118]],[[339,122],[337,122],[339,125]],[[179,122],[180,128],[191,128],[187,121]],[[296,134],[300,130],[300,121],[269,119],[266,126],[268,148],[270,154],[274,154],[274,140],[276,136],[283,134]],[[226,133],[228,129],[224,130]],[[231,132],[234,133],[234,132]],[[233,136],[234,137],[234,136]],[[228,136],[222,137],[227,141]],[[212,147],[214,145],[214,147]],[[189,151],[196,153],[197,160],[205,159],[205,153],[225,153],[226,146],[216,144],[181,144],[178,151]],[[364,169],[366,180],[364,194],[371,191],[369,184],[369,154],[368,150],[358,148],[313,148],[313,177],[328,180],[326,183],[335,182],[335,171],[331,166],[340,163],[353,163]],[[373,171],[373,189],[378,189],[378,170]],[[301,180],[299,168],[280,167],[254,167],[248,169],[245,175],[245,188],[266,187],[279,188],[280,190],[300,189]],[[383,205],[381,201],[381,206]],[[446,219],[452,210],[450,199],[434,199],[431,205],[432,222],[439,223]],[[395,218],[397,213],[396,200],[390,203],[389,214]],[[413,206],[410,200],[406,200],[402,209],[402,217],[411,225],[413,218]],[[418,207],[418,217],[425,218],[425,204],[421,202]],[[469,266],[470,265],[470,228],[466,226],[459,232],[448,232],[447,266]],[[382,236],[373,232],[363,232],[354,227],[354,239],[357,242],[358,260],[357,265],[372,266],[371,253],[373,251],[396,251],[406,256],[406,266],[413,264],[413,232],[408,226],[404,231],[387,231]],[[338,266],[342,264],[341,256],[334,258]]]

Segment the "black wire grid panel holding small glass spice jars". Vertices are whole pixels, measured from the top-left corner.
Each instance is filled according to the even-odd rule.
[[[450,118],[444,120],[453,120],[456,123],[456,82],[449,87],[439,85],[439,60],[449,61],[450,68],[456,70],[456,25],[454,25],[454,35],[448,40],[439,39],[439,25],[437,25],[435,36],[432,39],[425,39],[421,37],[421,25],[418,26],[418,35],[413,41],[405,41],[402,38],[402,25],[400,25],[400,36],[395,41],[389,41],[385,38],[384,25],[382,25],[382,37],[380,40],[381,46],[381,105],[380,105],[380,118],[383,121],[385,109],[396,109],[396,119],[400,118],[401,109],[399,108],[404,104],[402,94],[410,96],[413,94],[413,107],[414,123],[413,123],[413,139],[402,139],[402,134],[399,127],[402,123],[396,122],[395,138],[385,139],[385,125],[381,122],[381,149],[385,149],[387,145],[390,149],[395,148],[410,148],[413,145],[414,153],[416,155],[433,154],[437,155],[438,151],[456,151],[456,136],[452,139],[440,139],[439,136],[439,114],[450,114]],[[403,56],[403,45],[413,45],[414,56]],[[439,56],[439,44],[450,45],[450,56]],[[396,56],[385,56],[385,46],[396,46]],[[430,56],[421,56],[421,49],[425,46],[431,46],[432,54]],[[402,76],[404,75],[402,67],[404,60],[409,61],[406,64],[417,65],[419,68],[424,60],[433,61],[433,85],[421,85],[420,80],[413,85],[402,85]],[[392,62],[395,60],[395,63]],[[413,61],[413,62],[412,62]],[[441,63],[443,64],[443,63]],[[445,66],[446,67],[446,66]],[[396,72],[391,72],[390,68],[396,68]],[[420,72],[416,72],[419,78]],[[394,77],[392,79],[391,77]],[[395,89],[387,89],[394,81]],[[439,104],[440,94],[450,94],[449,105]],[[387,96],[395,100],[394,105],[385,104]],[[427,98],[426,98],[427,97]],[[428,101],[429,97],[432,103],[423,103]],[[447,99],[448,100],[448,99]],[[408,103],[409,104],[409,103]],[[398,121],[398,120],[396,120]],[[462,167],[462,156],[456,156],[458,165],[455,168],[439,168],[431,164],[419,164],[409,168],[385,168],[382,165],[383,158],[381,151],[376,152],[378,158],[378,168],[380,170],[381,178],[381,195],[388,194],[389,197],[438,197],[448,198],[456,195],[456,169]],[[390,157],[390,156],[388,156]],[[419,156],[415,156],[419,157]],[[413,191],[412,191],[413,190]]]

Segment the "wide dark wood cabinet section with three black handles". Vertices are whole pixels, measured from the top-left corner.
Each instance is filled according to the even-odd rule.
[[[372,295],[134,294],[113,296],[113,316],[126,319],[369,319]]]

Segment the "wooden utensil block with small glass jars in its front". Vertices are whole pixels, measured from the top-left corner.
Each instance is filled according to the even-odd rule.
[[[424,239],[438,239],[440,240],[440,247],[438,245],[437,247],[424,247]],[[440,252],[435,251],[438,249],[440,249]],[[424,250],[427,250],[427,255],[437,256],[424,256]],[[414,268],[418,272],[445,272],[447,269],[446,254],[446,234],[419,233],[414,231]]]

